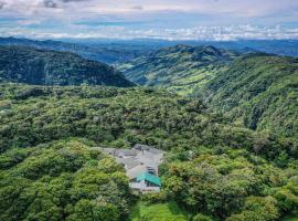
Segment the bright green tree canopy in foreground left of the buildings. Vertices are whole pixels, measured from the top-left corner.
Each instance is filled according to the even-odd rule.
[[[79,140],[0,156],[0,220],[123,220],[131,193],[121,166]]]

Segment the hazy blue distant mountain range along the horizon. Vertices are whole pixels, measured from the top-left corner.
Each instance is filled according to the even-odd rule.
[[[152,39],[63,39],[61,41],[0,38],[0,45],[23,45],[38,49],[67,51],[86,59],[114,64],[124,63],[155,52],[162,48],[187,44],[191,46],[212,45],[238,52],[266,52],[278,55],[298,56],[298,40],[238,40],[238,41],[164,41]]]

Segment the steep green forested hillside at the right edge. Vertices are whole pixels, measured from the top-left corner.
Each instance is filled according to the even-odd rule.
[[[251,129],[298,135],[298,60],[249,54],[210,81],[199,94]]]

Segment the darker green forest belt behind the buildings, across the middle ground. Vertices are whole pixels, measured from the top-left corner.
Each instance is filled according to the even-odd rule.
[[[284,151],[297,154],[294,138],[234,127],[200,99],[166,91],[7,84],[0,88],[2,151],[78,136],[119,147],[145,143],[167,150],[191,143],[256,149],[270,159]]]

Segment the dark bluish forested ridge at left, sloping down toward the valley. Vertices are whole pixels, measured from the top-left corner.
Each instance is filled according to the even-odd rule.
[[[38,85],[131,86],[113,67],[68,52],[0,46],[0,82]]]

